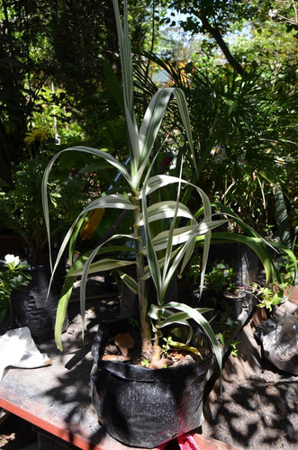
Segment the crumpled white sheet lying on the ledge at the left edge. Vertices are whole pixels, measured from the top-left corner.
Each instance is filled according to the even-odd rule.
[[[33,369],[50,365],[50,358],[35,346],[30,329],[11,329],[0,336],[0,381],[5,367]]]

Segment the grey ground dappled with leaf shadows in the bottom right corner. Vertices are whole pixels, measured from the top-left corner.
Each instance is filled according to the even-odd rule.
[[[203,423],[204,436],[246,449],[298,448],[297,376],[235,376],[223,381],[222,391]]]

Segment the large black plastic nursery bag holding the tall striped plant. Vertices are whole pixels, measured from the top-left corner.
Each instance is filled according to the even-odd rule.
[[[92,401],[108,433],[126,446],[153,448],[200,427],[211,360],[151,370],[103,361],[104,333],[93,344]]]

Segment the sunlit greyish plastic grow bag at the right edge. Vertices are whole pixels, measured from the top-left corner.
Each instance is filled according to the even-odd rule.
[[[278,369],[298,375],[298,320],[288,312],[257,326],[266,358]]]

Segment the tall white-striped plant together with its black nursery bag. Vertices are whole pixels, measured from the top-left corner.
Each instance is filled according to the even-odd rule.
[[[52,268],[52,277],[68,243],[71,267],[59,301],[55,338],[57,346],[62,350],[62,324],[77,277],[81,276],[80,303],[84,336],[87,275],[111,269],[119,270],[122,282],[138,296],[140,356],[136,356],[136,359],[140,364],[130,364],[135,358],[135,349],[131,348],[133,343],[126,333],[129,320],[112,324],[102,323],[93,347],[93,401],[100,421],[113,437],[130,446],[150,448],[201,425],[203,387],[211,363],[211,353],[207,351],[207,359],[202,360],[198,349],[202,330],[204,340],[209,339],[221,368],[221,348],[212,327],[203,317],[203,310],[198,308],[198,305],[190,307],[182,302],[167,302],[165,299],[171,279],[176,272],[183,272],[198,239],[201,244],[203,241],[203,286],[212,229],[226,223],[227,219],[213,220],[208,197],[200,187],[183,178],[182,152],[177,159],[179,165],[176,176],[158,175],[155,171],[159,150],[154,146],[167,104],[172,99],[175,99],[178,105],[185,127],[185,139],[191,154],[194,155],[185,96],[175,87],[159,89],[152,97],[140,128],[138,127],[133,107],[127,2],[124,2],[123,25],[117,0],[113,0],[113,5],[122,57],[122,106],[129,136],[129,164],[122,164],[110,153],[96,148],[78,146],[61,150],[50,160],[44,172],[42,201],[50,242],[47,184],[50,171],[60,155],[70,151],[91,154],[101,158],[105,164],[115,167],[122,175],[118,191],[102,193],[93,198],[78,215],[59,249],[58,258]],[[115,79],[113,82],[117,83]],[[120,85],[118,87],[120,88]],[[192,162],[195,170],[195,158]],[[203,209],[196,216],[181,201],[187,187],[191,187],[202,199]],[[74,261],[73,249],[82,218],[87,212],[100,208],[128,211],[131,213],[131,227],[127,232],[113,234]],[[257,242],[254,245],[256,246]],[[136,278],[128,275],[127,271],[122,272],[122,267],[127,266],[135,267]],[[149,279],[153,281],[155,288],[156,300],[152,304],[149,304]],[[120,357],[114,358],[112,355],[112,360],[104,359],[102,356],[107,352],[104,344],[111,336],[113,347],[120,351],[120,355],[115,356]],[[182,336],[184,338],[181,338]],[[163,365],[167,365],[167,362],[163,361],[163,356],[171,348],[176,352],[182,350],[187,356],[192,355],[192,364],[187,365],[185,361],[185,364],[164,368]],[[130,363],[124,362],[127,359]],[[186,360],[189,358],[186,357]],[[158,365],[155,365],[156,363]],[[158,368],[152,370],[154,367]]]

